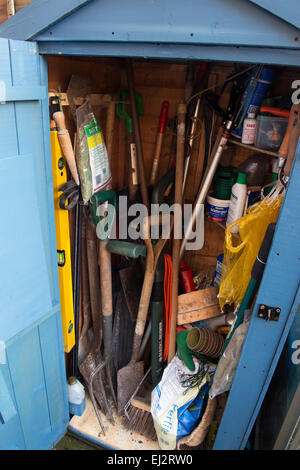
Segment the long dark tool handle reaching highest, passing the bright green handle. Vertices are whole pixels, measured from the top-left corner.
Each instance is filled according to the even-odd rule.
[[[134,81],[133,81],[133,67],[132,67],[132,62],[130,59],[126,60],[126,65],[127,65],[126,71],[127,71],[130,103],[131,103],[132,121],[133,121],[134,134],[135,134],[135,140],[136,140],[135,143],[136,143],[139,182],[141,186],[143,204],[147,207],[147,209],[149,209],[149,198],[148,198],[147,183],[146,183],[146,173],[145,173],[145,163],[144,163],[144,154],[143,154],[142,139],[141,139],[140,122],[139,122],[139,117],[138,117],[136,94],[135,94],[135,87],[134,87]]]

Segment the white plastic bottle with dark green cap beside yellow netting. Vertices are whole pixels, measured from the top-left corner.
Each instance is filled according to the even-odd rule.
[[[242,217],[245,202],[247,197],[247,173],[240,172],[238,174],[237,182],[232,186],[230,205],[228,210],[228,217],[226,221],[226,226],[232,224],[240,217]],[[238,231],[238,227],[233,227],[231,232],[235,233]]]

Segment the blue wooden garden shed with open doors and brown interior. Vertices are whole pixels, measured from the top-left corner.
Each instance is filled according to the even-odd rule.
[[[150,175],[161,104],[169,102],[168,120],[174,120],[178,104],[185,99],[191,67],[213,65],[207,88],[219,93],[218,104],[223,108],[229,98],[228,89],[222,90],[228,77],[257,65],[276,71],[273,97],[296,91],[295,81],[300,79],[298,3],[33,0],[0,25],[0,37],[0,195],[4,211],[0,235],[0,448],[50,449],[69,428],[107,448],[159,449],[157,442],[130,434],[118,419],[115,426],[106,422],[109,431],[104,436],[88,398],[85,414],[70,421],[66,381],[70,354],[65,357],[61,327],[49,98],[65,97],[72,75],[91,78],[92,95],[116,96],[127,86],[124,64],[130,58],[136,91],[143,100],[141,139],[145,173]],[[73,139],[72,113],[66,102],[62,105]],[[102,108],[99,119],[101,112]],[[113,188],[122,191],[128,182],[127,135],[124,122],[115,119],[110,165]],[[215,119],[218,122],[217,116]],[[211,147],[217,130],[215,124]],[[174,132],[170,125],[158,179],[174,157],[170,150]],[[200,136],[195,143],[186,202],[197,197],[204,140]],[[298,146],[214,440],[216,450],[246,447],[289,332],[298,328],[299,152]],[[249,148],[239,141],[229,142],[228,154],[231,164],[238,167],[249,157]],[[264,158],[268,156],[276,158],[277,153],[265,152]],[[194,274],[201,274],[204,268],[214,270],[223,242],[224,227],[205,219],[203,248],[186,254]],[[262,305],[280,311],[276,321],[259,316]],[[288,361],[288,367],[297,377],[297,365]]]

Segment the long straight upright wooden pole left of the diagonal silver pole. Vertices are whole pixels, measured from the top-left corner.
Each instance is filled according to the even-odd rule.
[[[182,183],[184,171],[184,143],[185,143],[185,117],[186,104],[180,104],[177,110],[177,151],[176,151],[176,173],[175,173],[175,196],[174,196],[174,240],[172,251],[173,278],[171,296],[171,321],[170,342],[168,352],[168,363],[173,359],[176,349],[176,324],[178,309],[178,283],[180,265],[180,244],[182,230]]]

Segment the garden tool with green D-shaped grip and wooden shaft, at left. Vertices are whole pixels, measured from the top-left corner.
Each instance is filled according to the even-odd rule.
[[[107,212],[108,216],[101,218],[99,208],[102,204],[109,203],[110,207]],[[100,267],[100,291],[101,291],[101,309],[102,309],[102,334],[104,343],[104,358],[106,361],[106,376],[110,392],[115,405],[117,400],[111,378],[110,361],[113,359],[111,355],[112,345],[112,277],[111,277],[111,254],[107,250],[109,235],[115,217],[116,193],[115,191],[99,191],[90,199],[91,218],[96,226],[96,234],[99,243],[98,264]]]

